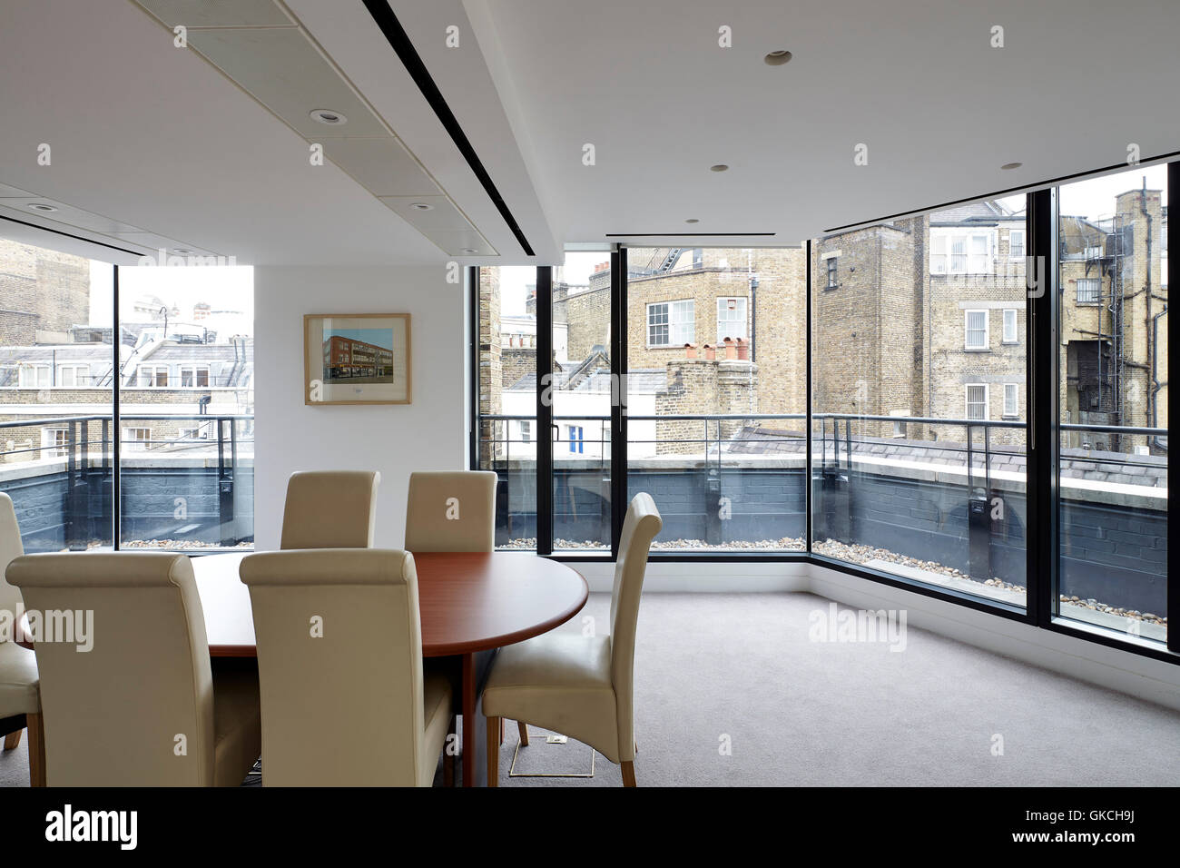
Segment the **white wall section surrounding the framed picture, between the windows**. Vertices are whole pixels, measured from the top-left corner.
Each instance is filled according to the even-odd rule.
[[[412,470],[466,466],[464,288],[442,265],[258,266],[255,309],[255,547],[278,548],[296,470],[379,470],[376,544],[400,548]],[[408,313],[413,403],[303,404],[303,314]]]

